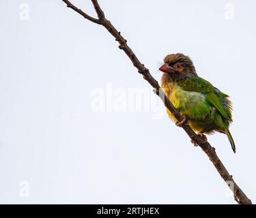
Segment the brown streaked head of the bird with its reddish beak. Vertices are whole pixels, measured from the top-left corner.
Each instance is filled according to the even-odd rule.
[[[173,81],[185,78],[187,76],[197,76],[193,61],[181,53],[167,55],[164,59],[165,64],[159,70],[164,72],[165,78]]]

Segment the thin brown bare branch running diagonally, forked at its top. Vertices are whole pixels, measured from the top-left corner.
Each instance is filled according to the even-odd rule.
[[[170,102],[170,100],[167,98],[167,96],[163,93],[162,89],[160,88],[160,85],[158,82],[154,79],[154,77],[150,74],[149,69],[147,69],[137,58],[137,56],[134,54],[132,49],[128,46],[127,40],[121,35],[117,29],[111,24],[109,20],[107,20],[104,16],[104,12],[102,11],[99,3],[97,0],[91,0],[91,2],[94,5],[94,9],[98,15],[98,18],[93,18],[83,12],[81,9],[74,6],[70,1],[68,0],[62,0],[64,3],[66,3],[67,7],[72,8],[75,12],[81,14],[85,19],[90,20],[91,22],[94,22],[98,25],[102,25],[106,28],[113,37],[115,37],[115,40],[119,43],[119,48],[121,50],[124,50],[126,55],[129,57],[130,61],[132,61],[134,67],[138,69],[138,72],[142,74],[143,78],[147,80],[151,84],[151,86],[156,89],[156,95],[158,95],[162,102],[165,104],[165,107],[168,108],[168,110],[175,116],[175,119],[177,119],[178,122],[181,122],[183,119],[183,116],[175,109],[173,104]],[[193,131],[189,125],[183,123],[181,127],[186,131],[186,134],[190,137],[191,140],[196,142],[203,152],[208,155],[210,161],[214,164],[214,167],[218,171],[218,174],[220,174],[221,178],[227,183],[227,185],[231,188],[231,191],[233,191],[233,197],[238,202],[238,204],[252,204],[251,200],[247,198],[246,194],[238,187],[236,182],[233,180],[233,177],[229,174],[225,166],[223,165],[221,159],[218,158],[218,155],[216,154],[216,151],[214,147],[210,145],[210,143],[206,140],[203,140],[200,136],[197,136],[195,131]]]

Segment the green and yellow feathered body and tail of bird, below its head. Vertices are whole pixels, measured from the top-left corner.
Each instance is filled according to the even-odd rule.
[[[236,153],[236,145],[229,131],[232,108],[228,95],[199,76],[167,82],[162,87],[175,108],[186,115],[188,124],[194,131],[219,131],[226,134],[233,152]],[[167,112],[173,119],[171,113]]]

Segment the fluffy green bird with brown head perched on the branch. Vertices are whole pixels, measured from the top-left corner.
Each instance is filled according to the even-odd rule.
[[[214,131],[226,134],[233,152],[236,153],[236,145],[229,131],[229,124],[232,122],[229,95],[197,76],[193,61],[186,55],[167,55],[164,62],[159,68],[164,73],[161,78],[162,90],[184,116],[184,120],[177,123],[167,109],[169,117],[177,125],[186,121],[199,136],[212,134]]]

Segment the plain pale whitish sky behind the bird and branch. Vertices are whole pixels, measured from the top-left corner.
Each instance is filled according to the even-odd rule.
[[[89,0],[72,2],[94,15]],[[183,52],[231,96],[236,155],[224,134],[208,140],[256,202],[256,1],[100,5],[157,80],[159,61]],[[92,110],[97,90],[152,90],[103,27],[60,0],[0,0],[0,27],[0,203],[236,203],[208,157],[166,115],[154,118],[156,108]]]

